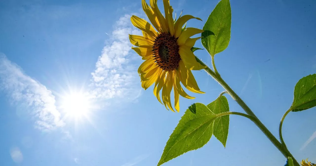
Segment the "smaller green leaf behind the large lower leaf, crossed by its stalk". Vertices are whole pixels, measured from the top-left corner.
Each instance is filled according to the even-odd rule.
[[[214,114],[229,112],[228,101],[225,96],[219,96],[207,105]],[[226,147],[228,136],[229,115],[220,116],[214,120],[213,134]]]

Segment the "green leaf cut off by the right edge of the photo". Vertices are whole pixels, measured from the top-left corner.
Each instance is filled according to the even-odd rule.
[[[290,109],[303,111],[316,106],[316,74],[303,77],[294,88],[294,101]]]

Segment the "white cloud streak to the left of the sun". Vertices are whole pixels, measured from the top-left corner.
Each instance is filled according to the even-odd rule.
[[[7,92],[12,104],[23,114],[35,118],[35,127],[50,131],[64,126],[55,106],[55,96],[44,85],[25,75],[21,68],[0,54],[0,89]]]

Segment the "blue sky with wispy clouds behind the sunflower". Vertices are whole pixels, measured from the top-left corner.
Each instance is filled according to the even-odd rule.
[[[218,1],[170,3],[205,22]],[[231,40],[215,57],[217,70],[277,136],[295,83],[316,72],[316,2],[232,0],[231,8]],[[217,98],[223,89],[204,71],[193,74],[206,94],[180,98],[180,113],[167,111],[152,87],[144,91],[137,74],[142,60],[128,40],[140,33],[131,26],[133,14],[145,17],[140,0],[0,1],[1,165],[156,165],[185,109]],[[211,63],[205,50],[196,55]],[[77,94],[89,98],[86,116],[64,109],[65,98]],[[230,111],[242,112],[227,98]],[[315,116],[312,108],[283,123],[297,160],[316,162]],[[226,148],[212,137],[164,165],[284,165],[250,120],[232,115],[229,127]]]

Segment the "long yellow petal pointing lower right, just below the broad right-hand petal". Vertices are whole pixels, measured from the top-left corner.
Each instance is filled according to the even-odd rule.
[[[182,61],[179,62],[179,78],[183,86],[191,92],[205,93],[200,91],[192,72],[185,67]]]

